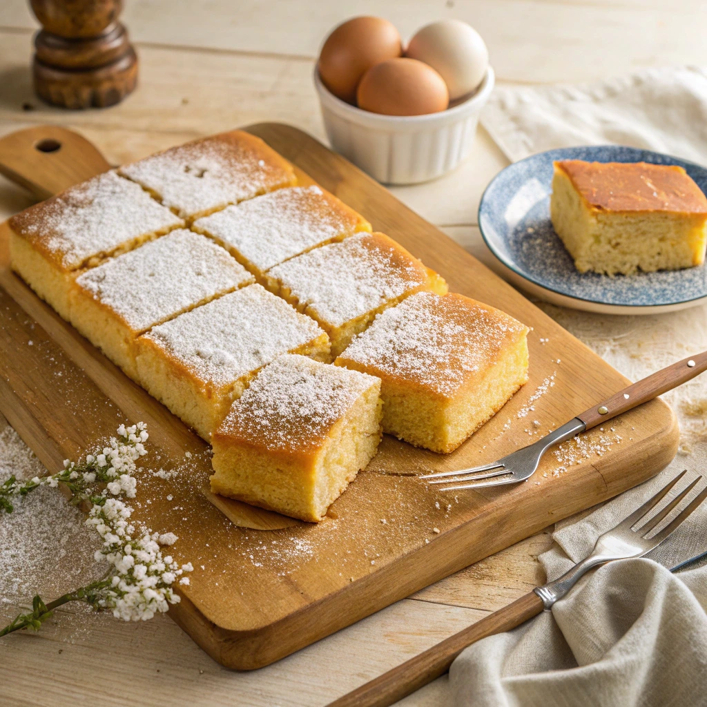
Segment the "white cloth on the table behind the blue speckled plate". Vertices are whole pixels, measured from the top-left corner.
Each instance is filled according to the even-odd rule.
[[[621,144],[707,165],[707,70],[646,69],[602,83],[497,88],[481,124],[512,161]]]

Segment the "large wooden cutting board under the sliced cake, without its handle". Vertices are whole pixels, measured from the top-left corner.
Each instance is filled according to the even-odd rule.
[[[549,453],[522,484],[445,492],[416,479],[506,455],[626,379],[344,158],[287,125],[247,130],[439,271],[451,291],[508,312],[531,332],[529,382],[459,450],[436,455],[386,437],[370,467],[333,504],[331,518],[249,530],[201,493],[211,472],[209,446],[11,273],[8,229],[1,228],[0,411],[49,469],[93,451],[119,423],[147,423],[150,453],[135,517],[152,530],[175,532],[170,551],[195,568],[170,615],[215,660],[240,670],[283,658],[635,486],[672,460],[678,442],[671,409],[655,399]],[[54,154],[60,158],[60,150]],[[82,169],[86,178],[105,162],[88,159]]]

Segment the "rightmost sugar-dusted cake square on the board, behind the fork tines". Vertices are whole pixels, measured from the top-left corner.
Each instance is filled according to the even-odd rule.
[[[420,292],[336,360],[382,380],[383,431],[452,452],[527,381],[525,325],[463,295]]]

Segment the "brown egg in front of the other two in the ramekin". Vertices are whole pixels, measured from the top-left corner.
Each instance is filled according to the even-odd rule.
[[[372,66],[356,96],[359,108],[383,115],[425,115],[449,105],[444,79],[417,59],[388,59]]]

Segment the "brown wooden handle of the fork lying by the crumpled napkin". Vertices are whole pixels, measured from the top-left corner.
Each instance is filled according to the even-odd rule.
[[[452,661],[464,648],[486,636],[515,629],[516,626],[537,616],[542,609],[540,597],[535,592],[530,592],[515,600],[513,604],[498,609],[476,624],[433,645],[424,653],[339,697],[328,707],[389,707],[447,672]]]

